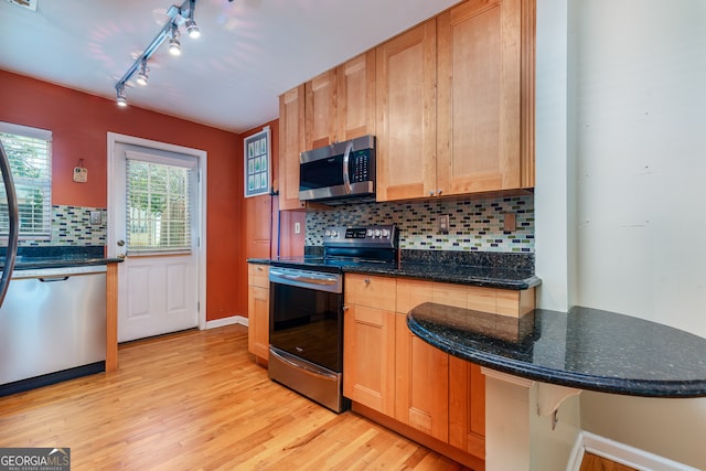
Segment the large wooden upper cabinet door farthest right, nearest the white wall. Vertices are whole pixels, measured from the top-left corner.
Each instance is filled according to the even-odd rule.
[[[437,18],[437,38],[438,186],[534,186],[534,2],[469,0]]]

